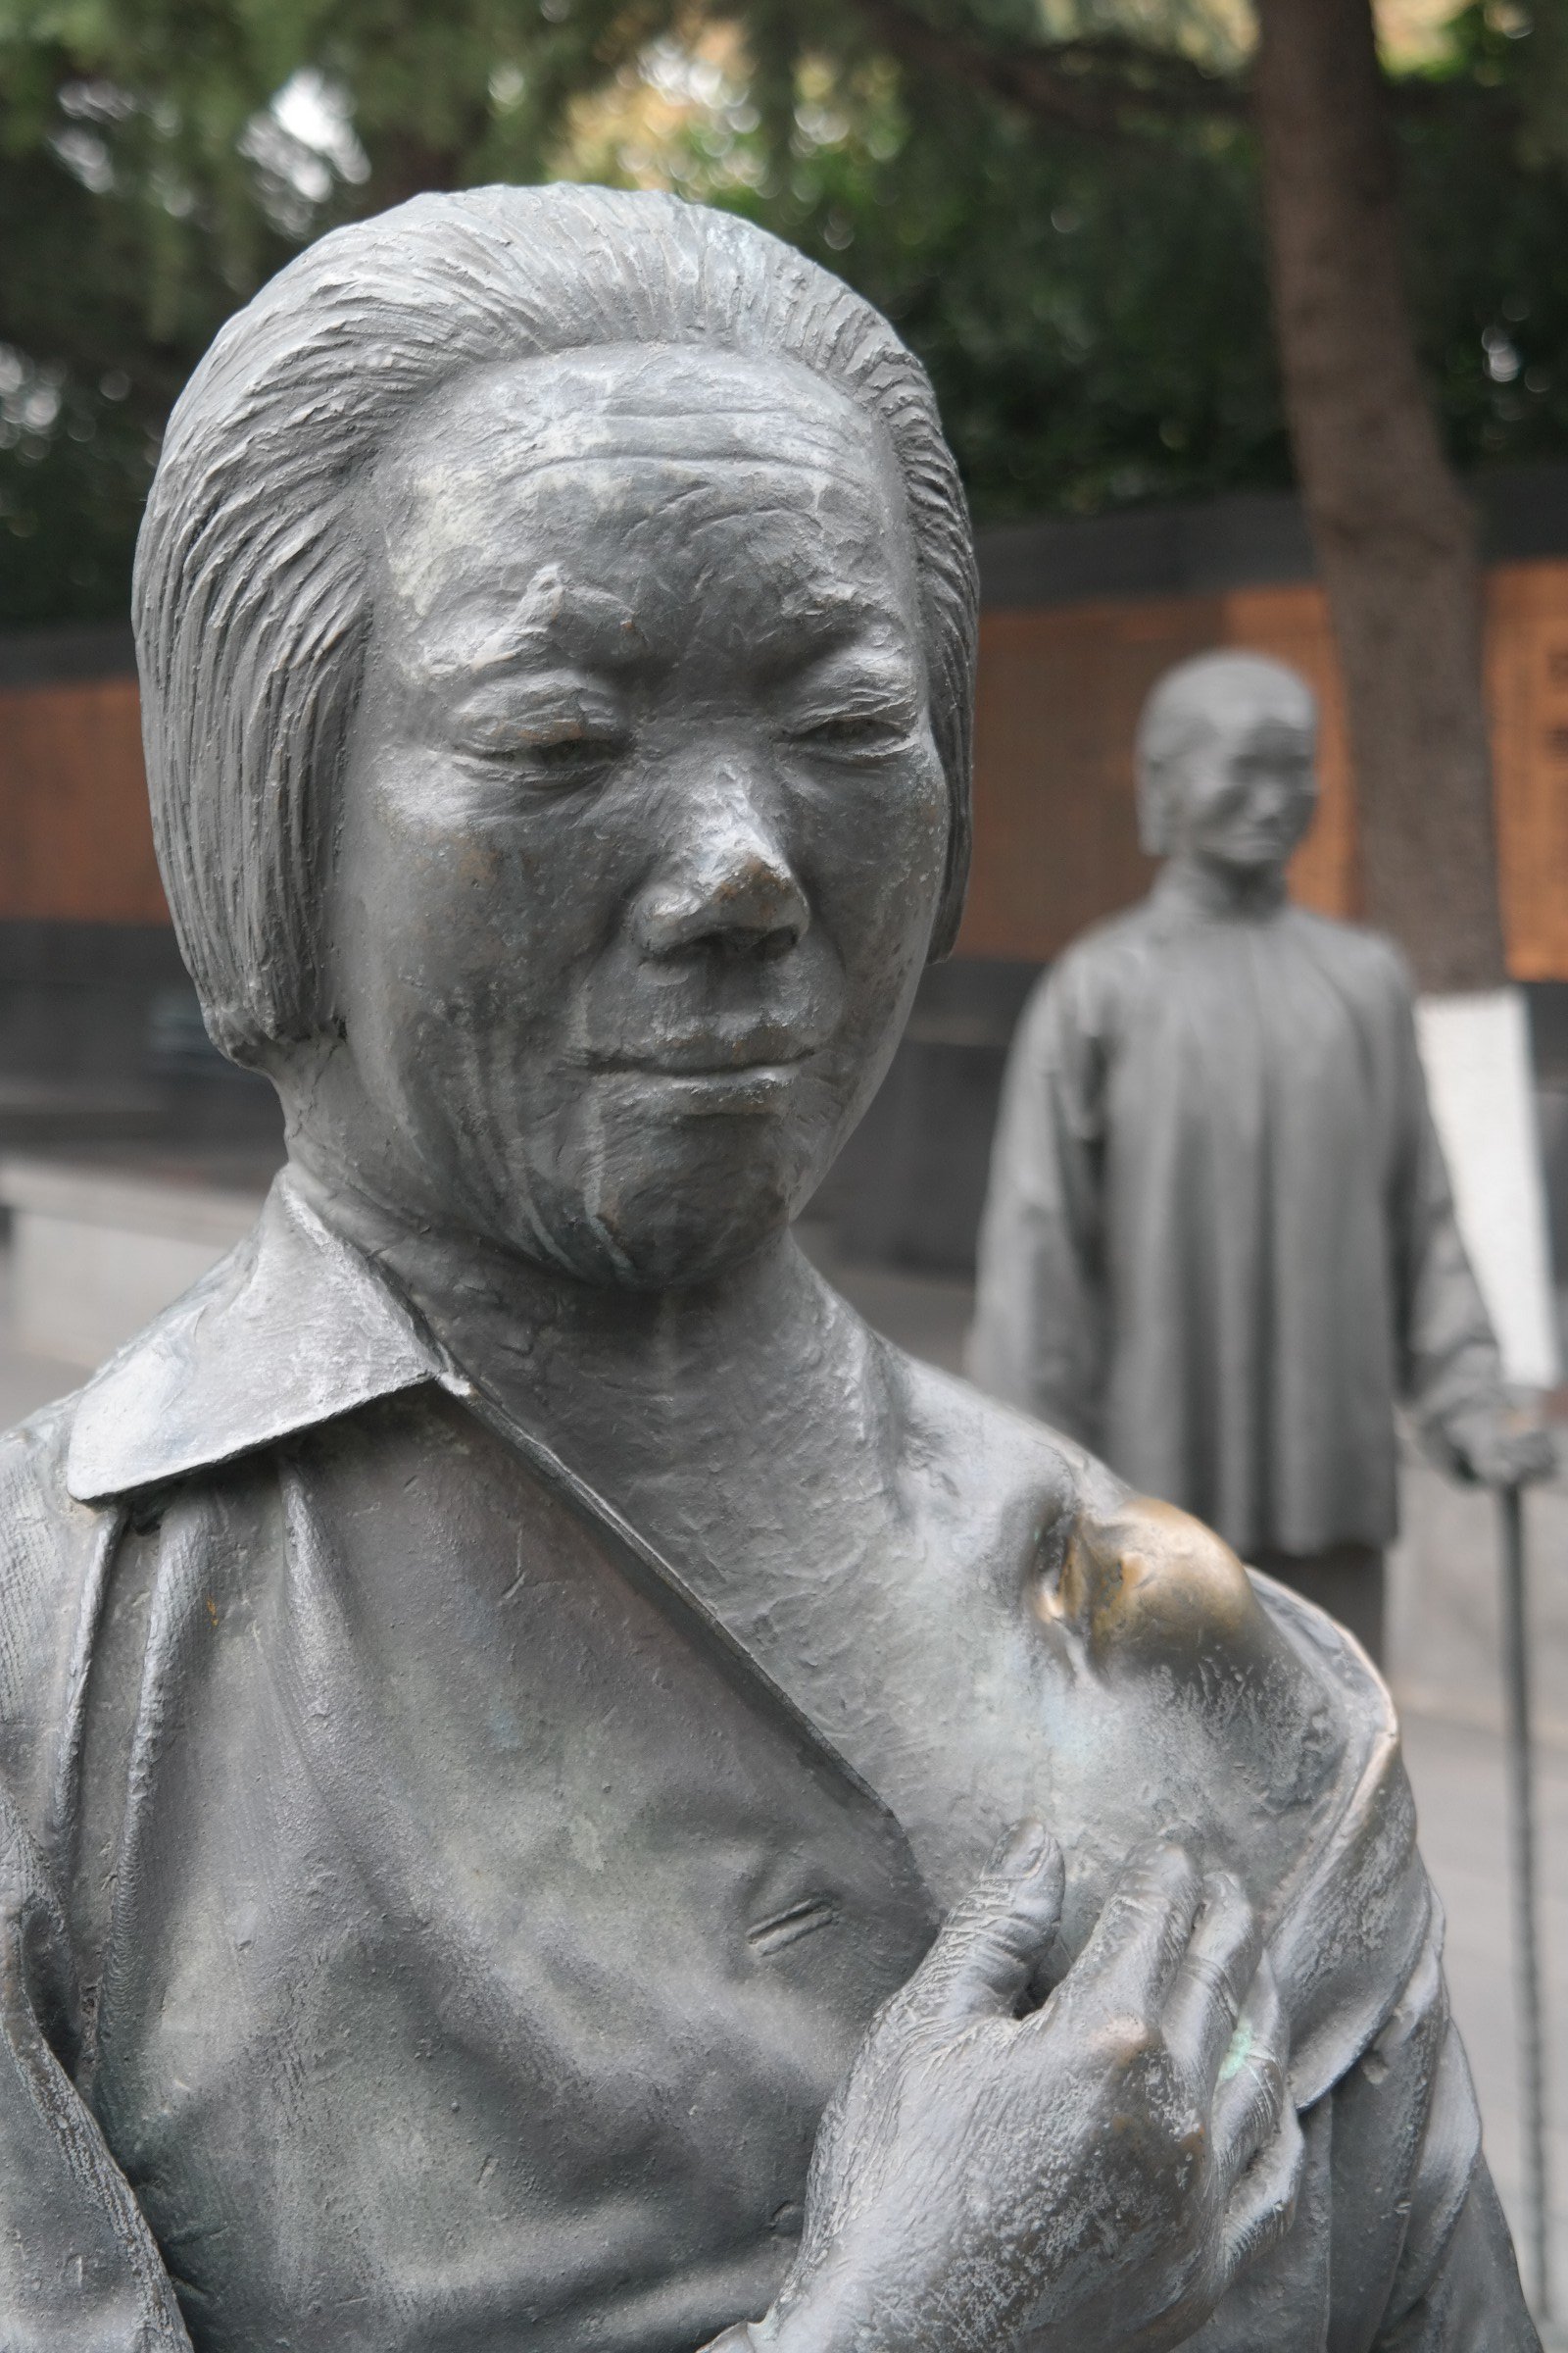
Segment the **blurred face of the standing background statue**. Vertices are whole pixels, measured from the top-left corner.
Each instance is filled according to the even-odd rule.
[[[1166,847],[1232,873],[1286,859],[1316,807],[1316,739],[1298,696],[1265,682],[1215,694],[1208,727],[1166,779]]]

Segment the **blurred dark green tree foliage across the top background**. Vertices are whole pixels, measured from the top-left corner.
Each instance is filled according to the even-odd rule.
[[[980,520],[1286,485],[1246,45],[1241,0],[0,0],[0,624],[125,609],[169,402],[270,271],[484,179],[837,268]],[[1568,0],[1462,7],[1394,92],[1453,454],[1568,452]]]

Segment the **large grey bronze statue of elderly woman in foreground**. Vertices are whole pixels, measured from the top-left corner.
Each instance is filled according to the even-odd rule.
[[[421,198],[197,369],[148,774],[289,1165],[5,1442],[7,2353],[1535,2344],[1363,1657],[790,1238],[973,624],[722,214]]]

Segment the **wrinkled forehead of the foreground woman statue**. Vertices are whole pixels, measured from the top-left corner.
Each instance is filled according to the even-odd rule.
[[[527,598],[679,598],[712,548],[776,609],[856,605],[922,635],[914,548],[879,419],[792,360],[689,346],[567,353],[444,388],[388,447],[371,541],[395,635]],[[701,572],[701,565],[696,567]],[[651,616],[649,616],[651,619]],[[675,628],[663,616],[661,635]],[[425,647],[421,666],[440,659]]]

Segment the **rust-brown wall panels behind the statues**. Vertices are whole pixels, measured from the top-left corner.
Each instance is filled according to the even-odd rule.
[[[1324,791],[1293,887],[1326,913],[1356,911],[1345,715],[1316,588],[987,612],[959,953],[1044,960],[1145,889],[1138,706],[1208,645],[1279,654],[1316,685]],[[1519,979],[1568,979],[1568,562],[1493,569],[1488,680],[1509,960]],[[0,692],[0,920],[26,915],[167,920],[127,678]]]

